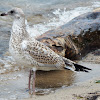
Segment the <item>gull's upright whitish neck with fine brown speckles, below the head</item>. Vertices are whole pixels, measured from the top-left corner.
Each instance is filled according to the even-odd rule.
[[[28,37],[28,33],[26,31],[25,17],[14,19],[11,31],[11,38],[22,41],[26,37]]]

